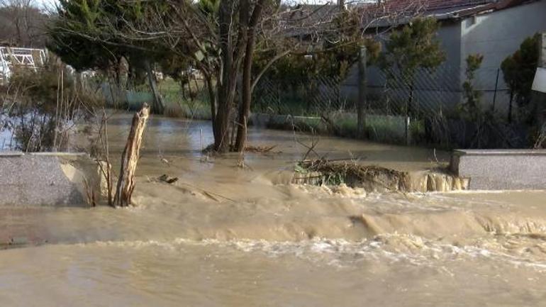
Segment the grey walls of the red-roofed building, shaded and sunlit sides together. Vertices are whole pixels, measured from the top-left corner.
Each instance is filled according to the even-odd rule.
[[[493,11],[462,20],[442,21],[438,38],[446,52],[446,62],[434,74],[418,74],[415,97],[426,104],[442,105],[443,109],[455,106],[462,100],[466,58],[479,53],[484,62],[477,72],[476,87],[483,92],[482,103],[491,106],[498,74],[496,111],[508,109],[508,89],[499,71],[501,62],[518,50],[520,44],[531,35],[546,31],[546,0],[531,2],[501,11]],[[380,96],[384,77],[377,67],[368,69],[369,94]],[[438,89],[440,88],[440,89]],[[358,96],[357,65],[353,66],[345,82],[342,94],[347,100],[356,101]],[[392,95],[403,99],[403,90]]]

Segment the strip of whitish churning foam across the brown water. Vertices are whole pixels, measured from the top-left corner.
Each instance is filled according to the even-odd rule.
[[[299,242],[267,240],[189,240],[172,241],[134,240],[97,241],[78,244],[81,247],[122,247],[133,249],[160,248],[170,252],[184,250],[188,246],[214,247],[245,253],[260,253],[267,257],[294,256],[318,264],[339,267],[355,265],[361,261],[405,262],[416,266],[439,267],[438,262],[490,259],[495,262],[532,267],[546,272],[546,262],[510,255],[502,250],[481,246],[456,246],[438,241],[425,240],[414,235],[380,235],[373,240],[352,242],[343,239],[314,238]]]

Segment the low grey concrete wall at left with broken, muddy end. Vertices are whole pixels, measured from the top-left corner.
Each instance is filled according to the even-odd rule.
[[[86,206],[100,178],[86,154],[0,152],[0,206]]]

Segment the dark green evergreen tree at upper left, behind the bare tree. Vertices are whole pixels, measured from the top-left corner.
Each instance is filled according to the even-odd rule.
[[[79,71],[113,72],[121,88],[125,87],[121,84],[121,68],[126,60],[129,73],[146,72],[155,98],[152,110],[162,113],[162,97],[152,74],[152,65],[162,50],[146,41],[119,35],[144,22],[147,6],[157,9],[162,1],[60,0],[58,16],[48,28],[48,48]]]

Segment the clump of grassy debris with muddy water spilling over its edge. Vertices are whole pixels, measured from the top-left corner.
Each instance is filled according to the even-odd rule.
[[[467,179],[436,169],[425,172],[401,172],[374,165],[340,160],[303,160],[296,164],[294,184],[364,188],[377,192],[459,191],[467,189]]]

